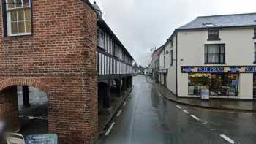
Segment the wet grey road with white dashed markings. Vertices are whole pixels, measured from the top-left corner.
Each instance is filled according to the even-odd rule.
[[[134,89],[99,144],[255,143],[256,114],[177,105],[150,78],[134,77]],[[111,129],[112,128],[112,129]]]

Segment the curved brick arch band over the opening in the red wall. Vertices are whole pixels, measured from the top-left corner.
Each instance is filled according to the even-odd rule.
[[[39,88],[46,93],[48,93],[49,90],[49,86],[45,83],[28,78],[8,78],[0,81],[0,91],[9,86],[33,86],[34,88]]]

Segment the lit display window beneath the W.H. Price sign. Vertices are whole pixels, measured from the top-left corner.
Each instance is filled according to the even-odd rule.
[[[189,95],[209,89],[210,96],[238,96],[238,74],[189,74]]]

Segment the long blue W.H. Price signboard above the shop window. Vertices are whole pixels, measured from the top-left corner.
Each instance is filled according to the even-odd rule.
[[[182,66],[182,73],[256,73],[256,66],[232,66],[232,67],[191,67]]]

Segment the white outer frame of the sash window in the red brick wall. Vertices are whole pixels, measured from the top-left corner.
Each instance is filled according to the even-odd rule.
[[[23,0],[22,0],[23,2]],[[18,37],[18,36],[31,36],[33,35],[33,1],[29,0],[29,7],[19,7],[19,8],[8,8],[7,0],[3,0],[2,3],[2,15],[3,15],[3,30],[4,30],[4,37]],[[10,18],[10,10],[30,10],[30,23],[31,23],[31,32],[24,32],[24,33],[17,33],[12,34],[11,28],[11,18]],[[24,21],[25,15],[24,15]],[[26,28],[25,28],[26,29]]]

